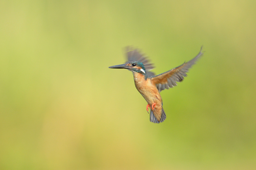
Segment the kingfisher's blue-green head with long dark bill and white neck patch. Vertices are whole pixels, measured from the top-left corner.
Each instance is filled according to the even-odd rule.
[[[127,69],[127,70],[130,70],[132,72],[146,74],[145,66],[140,61],[128,61],[125,64],[113,65],[113,66],[110,66],[108,68],[110,68],[110,69]]]

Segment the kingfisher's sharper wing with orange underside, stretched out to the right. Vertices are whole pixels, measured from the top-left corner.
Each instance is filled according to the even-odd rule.
[[[166,71],[160,75],[152,76],[152,81],[156,84],[156,87],[159,92],[161,92],[164,89],[172,88],[173,86],[176,86],[176,82],[181,82],[185,76],[187,76],[188,69],[195,64],[197,59],[203,55],[202,48],[200,52],[195,56],[195,58],[191,59],[188,62],[183,63],[179,67],[173,68],[169,71]]]

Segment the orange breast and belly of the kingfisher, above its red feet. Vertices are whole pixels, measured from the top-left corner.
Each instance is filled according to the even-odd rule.
[[[162,98],[159,94],[159,91],[156,88],[156,86],[152,84],[150,78],[147,78],[145,80],[145,76],[139,73],[133,73],[133,77],[135,87],[148,103],[155,103],[155,100],[159,100],[162,102]]]

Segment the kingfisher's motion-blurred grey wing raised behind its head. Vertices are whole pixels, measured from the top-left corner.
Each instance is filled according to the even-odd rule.
[[[155,75],[153,72],[150,71],[154,68],[153,64],[149,62],[148,57],[144,56],[144,54],[142,54],[138,48],[133,48],[131,46],[127,46],[125,48],[125,53],[126,53],[126,57],[127,57],[128,61],[142,62],[146,69],[146,73],[148,76]]]

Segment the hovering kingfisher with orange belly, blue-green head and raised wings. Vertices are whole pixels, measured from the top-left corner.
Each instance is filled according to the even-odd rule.
[[[150,122],[160,123],[166,119],[166,114],[163,109],[163,101],[160,92],[165,89],[172,88],[181,82],[189,68],[203,55],[203,46],[200,52],[188,62],[184,62],[178,67],[175,67],[162,74],[155,75],[152,70],[153,64],[150,63],[148,57],[145,56],[139,49],[127,46],[125,54],[127,62],[125,64],[114,65],[108,68],[111,69],[127,69],[133,72],[135,87],[144,97],[146,102],[146,110],[150,109]]]

